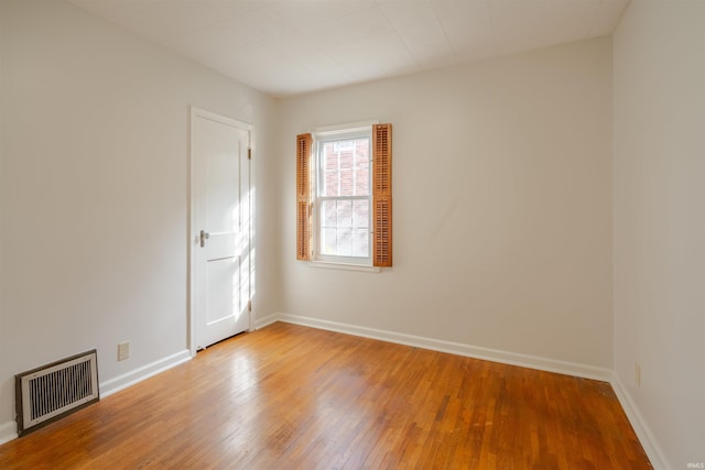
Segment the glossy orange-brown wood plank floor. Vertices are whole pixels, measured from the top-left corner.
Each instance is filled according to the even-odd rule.
[[[610,385],[278,323],[0,446],[1,469],[649,469]]]

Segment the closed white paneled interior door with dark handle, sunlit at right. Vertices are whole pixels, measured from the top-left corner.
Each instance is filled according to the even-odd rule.
[[[198,350],[251,325],[251,129],[198,109],[191,124],[191,325]]]

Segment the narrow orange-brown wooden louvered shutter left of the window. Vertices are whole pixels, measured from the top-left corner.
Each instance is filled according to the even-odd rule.
[[[311,134],[296,135],[296,259],[311,259]]]

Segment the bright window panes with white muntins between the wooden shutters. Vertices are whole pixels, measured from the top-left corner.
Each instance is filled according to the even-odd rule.
[[[371,129],[316,135],[315,259],[371,264]]]

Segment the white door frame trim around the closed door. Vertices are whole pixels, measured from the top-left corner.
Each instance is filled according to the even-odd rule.
[[[195,106],[189,106],[188,107],[188,182],[187,182],[187,187],[188,187],[188,223],[187,223],[187,231],[186,231],[186,245],[187,245],[187,287],[186,287],[186,316],[187,316],[187,325],[186,325],[186,341],[187,341],[187,346],[188,346],[188,351],[191,353],[191,357],[193,358],[194,356],[196,356],[196,306],[195,306],[195,282],[194,282],[194,276],[195,276],[195,272],[196,272],[196,250],[194,250],[196,242],[197,242],[197,234],[196,234],[196,218],[195,218],[195,207],[196,207],[196,194],[194,190],[194,184],[193,184],[193,179],[194,179],[194,166],[195,166],[195,157],[194,157],[194,153],[195,153],[195,139],[194,139],[194,132],[195,132],[195,120],[197,118],[202,118],[202,119],[208,119],[215,122],[220,122],[223,124],[226,125],[232,125],[235,128],[238,129],[242,129],[248,131],[249,133],[249,149],[250,149],[250,157],[249,157],[249,165],[248,165],[248,187],[249,187],[249,192],[251,193],[249,199],[249,204],[250,204],[250,219],[251,222],[249,225],[249,232],[248,232],[248,237],[249,237],[249,247],[250,247],[250,251],[253,252],[254,251],[254,223],[256,223],[256,214],[254,214],[254,198],[253,198],[253,184],[252,184],[252,175],[253,175],[253,171],[252,171],[252,159],[251,159],[251,152],[253,149],[252,142],[253,142],[253,134],[254,134],[254,127],[250,123],[247,122],[242,122],[239,121],[237,119],[232,119],[232,118],[228,118],[226,116],[221,116],[221,114],[217,114],[215,112],[212,111],[207,111],[205,109],[195,107]],[[252,263],[252,256],[249,256],[249,292],[250,292],[250,306],[252,305],[252,297],[253,297],[253,285],[254,285],[254,265]],[[253,307],[249,308],[248,311],[248,323],[249,323],[249,330],[252,329],[252,318],[253,318],[253,314],[252,314]]]

